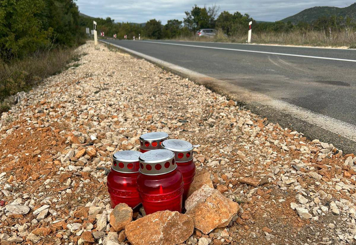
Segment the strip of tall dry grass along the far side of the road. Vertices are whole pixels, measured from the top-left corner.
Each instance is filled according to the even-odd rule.
[[[218,32],[215,37],[179,37],[182,41],[207,41],[207,42],[236,42],[245,43],[247,32],[227,37]],[[324,31],[292,31],[292,32],[260,32],[252,31],[252,42],[257,44],[282,44],[282,45],[305,45],[323,47],[350,47],[356,48],[356,31],[343,30],[338,32]]]

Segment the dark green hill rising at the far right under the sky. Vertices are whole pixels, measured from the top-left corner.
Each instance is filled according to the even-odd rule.
[[[289,16],[282,21],[292,21],[293,24],[297,24],[299,21],[304,21],[308,23],[312,23],[317,20],[319,17],[327,16],[330,17],[332,15],[342,16],[346,18],[349,16],[353,21],[356,21],[356,2],[351,4],[348,7],[312,7],[310,9],[305,9],[302,12],[299,12],[296,15]]]

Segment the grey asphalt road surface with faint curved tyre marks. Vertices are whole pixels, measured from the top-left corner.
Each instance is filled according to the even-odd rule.
[[[334,124],[345,122],[346,127],[356,128],[356,50],[210,42],[106,41],[225,81],[231,88],[242,87],[306,109],[316,113],[313,117],[326,116],[336,119]],[[273,108],[270,112],[265,108],[265,111],[262,114],[277,122],[286,121],[280,118],[284,117],[283,112],[276,116],[278,113],[273,112]],[[297,129],[311,127],[301,122],[288,123],[288,120],[285,124]],[[355,128],[350,129],[351,134],[356,133],[352,132]],[[327,133],[310,132],[309,136],[320,138],[324,134]],[[346,138],[354,139],[354,136]],[[333,137],[325,136],[326,139]],[[340,142],[335,142],[355,151],[352,150],[355,144],[345,145],[346,141],[341,137]]]

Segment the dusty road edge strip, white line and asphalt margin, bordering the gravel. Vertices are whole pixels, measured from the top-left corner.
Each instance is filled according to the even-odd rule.
[[[261,117],[267,117],[268,121],[273,122],[273,123],[278,123],[282,127],[288,127],[291,129],[295,129],[298,132],[301,132],[304,134],[305,137],[309,138],[310,140],[313,139],[319,139],[320,141],[323,142],[329,142],[333,143],[335,147],[342,149],[344,153],[355,153],[356,154],[356,140],[352,140],[348,137],[344,137],[340,135],[337,132],[332,132],[325,127],[320,127],[318,125],[315,125],[314,123],[308,122],[308,118],[315,118],[315,114],[318,113],[313,113],[312,115],[306,115],[305,118],[307,120],[300,119],[296,116],[293,116],[291,113],[286,113],[283,111],[286,110],[288,107],[289,111],[295,111],[295,110],[300,110],[298,109],[297,106],[291,105],[286,102],[278,101],[276,99],[272,99],[268,96],[258,94],[256,92],[251,92],[245,88],[232,85],[229,82],[222,81],[213,77],[206,76],[204,74],[198,73],[191,71],[187,68],[181,67],[174,65],[172,63],[159,60],[158,58],[152,57],[145,55],[143,53],[127,49],[125,47],[122,47],[120,45],[112,44],[111,42],[99,40],[100,42],[103,42],[104,44],[107,45],[112,45],[115,46],[116,48],[129,53],[130,55],[133,55],[138,58],[144,58],[145,60],[157,65],[158,67],[164,68],[167,71],[170,71],[176,75],[188,78],[191,81],[194,81],[195,83],[199,85],[203,85],[206,88],[210,89],[211,91],[217,92],[220,95],[226,96],[228,99],[233,99],[234,101],[237,101],[240,106],[244,106],[246,109],[251,110],[251,112],[261,116]],[[224,88],[230,88],[231,86],[234,87],[234,91],[227,91]],[[279,108],[279,109],[276,109]],[[281,109],[282,108],[282,109]],[[304,108],[300,111],[308,111]],[[302,114],[303,112],[299,113]],[[297,113],[298,114],[298,113]],[[313,115],[314,114],[314,115]],[[321,114],[319,114],[321,115]],[[324,115],[321,115],[324,116]],[[327,117],[327,116],[324,116]],[[337,119],[334,118],[329,118],[327,117],[330,122],[330,119],[333,119],[334,126],[338,127],[341,122]],[[347,123],[345,125],[341,125],[341,129],[345,130],[345,127],[347,127]],[[349,124],[351,125],[351,124]],[[356,133],[356,127],[353,128],[353,132]],[[356,134],[355,134],[356,135]]]

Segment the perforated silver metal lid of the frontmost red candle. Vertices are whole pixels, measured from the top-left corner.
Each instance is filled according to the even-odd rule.
[[[140,158],[140,173],[146,175],[161,175],[177,168],[174,153],[170,150],[158,149],[142,153]]]

